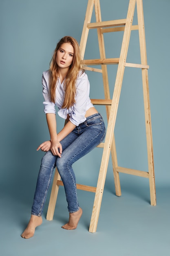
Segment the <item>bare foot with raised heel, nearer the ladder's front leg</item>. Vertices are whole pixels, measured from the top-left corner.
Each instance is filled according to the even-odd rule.
[[[66,223],[64,226],[62,226],[62,228],[68,229],[68,230],[76,229],[79,219],[82,216],[82,213],[83,213],[83,211],[81,208],[74,213],[69,213],[68,223]]]

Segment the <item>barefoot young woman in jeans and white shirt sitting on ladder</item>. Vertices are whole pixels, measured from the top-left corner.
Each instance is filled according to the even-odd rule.
[[[77,41],[63,37],[54,51],[50,69],[42,75],[44,112],[50,140],[37,150],[45,151],[35,190],[31,219],[23,238],[34,235],[35,228],[42,224],[42,211],[55,166],[64,183],[68,203],[69,220],[62,228],[75,229],[82,216],[77,200],[75,174],[72,165],[86,155],[105,136],[102,116],[89,98],[90,85],[87,75],[80,68],[80,52]],[[64,128],[57,134],[55,105],[58,115],[66,119]]]

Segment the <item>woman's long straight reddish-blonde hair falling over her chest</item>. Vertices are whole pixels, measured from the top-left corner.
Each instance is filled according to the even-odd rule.
[[[68,73],[65,78],[65,83],[64,83],[64,91],[65,91],[65,97],[64,97],[64,102],[62,105],[62,108],[69,108],[70,106],[73,106],[75,103],[75,82],[77,79],[77,75],[79,71],[81,70],[80,67],[80,50],[79,50],[79,45],[77,43],[77,40],[71,36],[64,36],[58,43],[57,46],[54,50],[53,57],[50,62],[50,96],[51,96],[51,101],[55,103],[55,91],[56,91],[56,86],[57,86],[57,79],[59,76],[58,73],[58,65],[56,63],[56,54],[57,51],[60,49],[61,45],[63,43],[70,43],[73,48],[74,48],[74,55],[73,55],[73,62],[69,67]],[[82,70],[84,72],[84,70]]]

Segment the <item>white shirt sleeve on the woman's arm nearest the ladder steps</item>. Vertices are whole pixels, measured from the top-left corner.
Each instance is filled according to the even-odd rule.
[[[73,111],[70,113],[70,121],[78,126],[86,120],[86,107],[89,99],[90,84],[88,76],[83,73],[77,78],[75,104],[73,105]]]

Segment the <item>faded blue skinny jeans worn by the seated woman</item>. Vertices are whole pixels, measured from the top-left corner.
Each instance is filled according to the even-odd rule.
[[[102,116],[97,113],[87,117],[86,121],[76,126],[70,134],[60,141],[63,149],[61,158],[53,155],[50,150],[46,152],[42,157],[31,210],[32,215],[42,216],[55,166],[57,166],[64,184],[68,211],[73,213],[79,210],[76,180],[72,165],[102,142],[104,137],[104,121]]]

